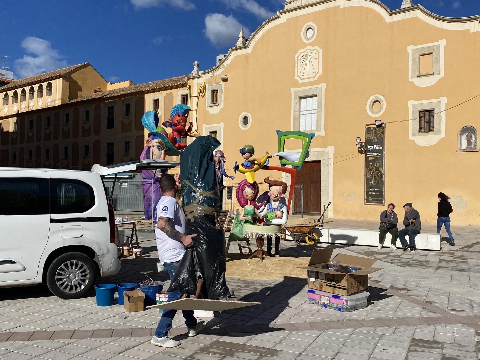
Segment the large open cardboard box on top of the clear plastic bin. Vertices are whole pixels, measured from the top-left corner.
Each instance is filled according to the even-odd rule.
[[[376,259],[346,254],[337,254],[332,260],[339,261],[341,266],[358,267],[361,270],[343,274],[323,269],[323,265],[330,262],[332,252],[333,248],[314,250],[308,266],[299,266],[300,269],[308,270],[309,288],[336,295],[349,296],[359,291],[367,290],[368,275],[383,269],[383,267],[372,267]]]

